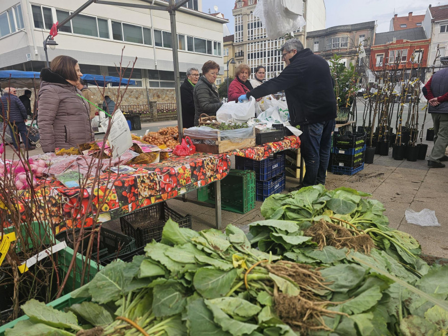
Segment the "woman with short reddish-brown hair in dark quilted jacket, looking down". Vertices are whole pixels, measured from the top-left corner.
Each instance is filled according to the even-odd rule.
[[[202,66],[202,76],[193,90],[195,102],[195,126],[199,125],[199,116],[202,113],[216,115],[223,103],[220,101],[218,90],[215,86],[216,78],[220,72],[220,66],[214,61],[207,61]]]

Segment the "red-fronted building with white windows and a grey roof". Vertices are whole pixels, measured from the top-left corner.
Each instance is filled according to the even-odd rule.
[[[423,27],[376,33],[370,53],[371,69],[381,76],[384,71],[405,71],[405,78],[411,78],[415,76],[413,69],[420,66],[424,74],[429,46]]]

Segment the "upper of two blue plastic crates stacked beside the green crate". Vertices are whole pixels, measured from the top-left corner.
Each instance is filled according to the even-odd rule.
[[[283,152],[274,153],[272,158],[261,161],[236,156],[235,168],[253,170],[257,181],[267,181],[285,171],[285,154]]]

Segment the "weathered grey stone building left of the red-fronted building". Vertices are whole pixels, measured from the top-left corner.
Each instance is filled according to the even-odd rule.
[[[374,41],[375,29],[375,21],[368,21],[311,31],[307,34],[306,47],[327,61],[336,54],[342,57],[339,62],[346,67],[349,64],[357,66],[361,75],[361,84],[365,84],[368,77],[366,68],[369,67],[370,48]],[[366,53],[364,58],[358,58],[359,45],[364,47]]]

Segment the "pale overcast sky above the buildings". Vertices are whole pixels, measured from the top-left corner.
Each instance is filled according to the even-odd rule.
[[[313,1],[313,0],[309,0]],[[389,31],[390,19],[394,13],[398,16],[406,16],[410,11],[413,15],[425,14],[428,4],[438,6],[447,4],[448,1],[428,2],[425,0],[325,0],[327,9],[326,28],[340,24],[352,24],[365,21],[377,21],[377,32]],[[227,24],[231,33],[234,31],[232,9],[234,0],[202,0],[202,9],[205,12],[215,12],[214,5],[218,11],[224,13],[229,19]]]

